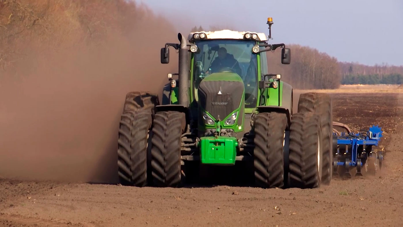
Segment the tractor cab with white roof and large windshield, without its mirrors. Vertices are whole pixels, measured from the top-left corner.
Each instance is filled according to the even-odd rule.
[[[252,35],[245,38],[245,34]],[[256,107],[258,76],[268,73],[266,54],[260,56],[252,51],[253,46],[261,41],[259,37],[264,39],[266,36],[263,33],[258,35],[230,30],[190,33],[192,98],[198,101],[199,84],[209,75],[235,73],[242,79],[245,87],[245,108]]]

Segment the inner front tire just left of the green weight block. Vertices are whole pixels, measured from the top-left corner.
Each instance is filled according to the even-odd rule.
[[[157,187],[177,187],[181,183],[181,138],[185,113],[157,112],[154,118],[151,173]]]

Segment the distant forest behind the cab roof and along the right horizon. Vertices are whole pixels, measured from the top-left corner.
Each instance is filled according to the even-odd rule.
[[[210,31],[231,29],[220,26]],[[205,31],[193,27],[191,31]],[[281,64],[281,50],[266,52],[269,73],[283,74],[282,79],[299,89],[334,89],[341,84],[402,84],[403,66],[386,64],[368,66],[355,62],[339,62],[337,58],[319,52],[315,48],[298,44],[286,44],[291,48],[291,64]]]

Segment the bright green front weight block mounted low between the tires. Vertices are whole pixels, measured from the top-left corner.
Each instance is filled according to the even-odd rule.
[[[203,164],[235,165],[237,147],[235,137],[201,137],[200,160]]]

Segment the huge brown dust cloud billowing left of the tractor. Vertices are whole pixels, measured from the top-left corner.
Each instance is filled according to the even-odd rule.
[[[25,9],[35,2],[45,5],[47,11],[42,19],[45,22],[56,18],[54,15],[60,10],[71,15],[72,4],[74,9],[84,7],[82,15],[87,18],[102,12],[108,14],[112,5],[88,3],[91,8],[83,6],[85,0],[78,3],[63,0],[60,5],[45,0],[29,2],[31,5],[24,6]],[[93,19],[87,20],[88,28],[81,26],[69,31],[75,40],[66,41],[68,28],[62,27],[61,22],[66,22],[63,18],[53,24],[60,25],[57,32],[62,35],[58,37],[49,36],[48,30],[37,33],[31,30],[25,33],[26,37],[20,35],[18,42],[8,42],[7,45],[16,45],[15,49],[19,45],[19,56],[23,57],[12,62],[13,67],[0,69],[0,177],[117,181],[118,122],[125,95],[147,90],[161,96],[166,73],[177,71],[177,54],[172,51],[170,64],[162,65],[160,48],[166,42],[178,42],[177,31],[162,17],[153,15],[144,6],[117,2],[121,4],[120,15],[110,14],[112,18],[123,18],[125,24],[118,20],[100,21],[109,24],[103,25],[98,37],[94,35],[96,31],[91,31],[91,25],[97,26]],[[91,15],[94,7],[98,7],[97,14]],[[78,17],[79,23],[85,21],[82,15]],[[88,33],[97,42],[92,42]],[[63,39],[53,42],[60,37]],[[82,42],[76,43],[77,40]],[[7,45],[3,43],[0,48],[13,49]]]

